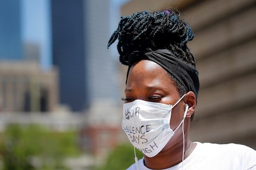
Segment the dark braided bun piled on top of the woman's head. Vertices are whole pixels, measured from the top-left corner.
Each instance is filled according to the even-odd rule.
[[[174,11],[136,12],[121,17],[117,30],[111,36],[108,47],[118,41],[118,52],[171,49],[176,45],[182,48],[193,39],[191,27],[179,19]]]

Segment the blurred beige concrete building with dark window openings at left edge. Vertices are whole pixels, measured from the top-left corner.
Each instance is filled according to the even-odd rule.
[[[4,113],[52,112],[58,107],[58,72],[29,61],[0,62],[0,109]]]

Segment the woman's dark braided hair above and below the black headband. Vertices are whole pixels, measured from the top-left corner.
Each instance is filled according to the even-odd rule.
[[[117,30],[114,31],[108,47],[118,39],[117,50],[120,62],[129,67],[131,58],[135,61],[147,52],[158,49],[170,50],[178,59],[195,67],[195,59],[186,43],[193,39],[191,27],[180,20],[177,11],[142,11],[133,15],[121,17]],[[170,75],[171,76],[171,75]],[[180,95],[186,88],[171,76],[177,85]]]

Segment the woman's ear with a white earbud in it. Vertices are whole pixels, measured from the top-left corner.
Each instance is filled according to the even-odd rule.
[[[192,91],[187,92],[183,101],[189,105],[186,117],[191,117],[192,114],[195,113],[195,108],[196,108],[195,94]]]

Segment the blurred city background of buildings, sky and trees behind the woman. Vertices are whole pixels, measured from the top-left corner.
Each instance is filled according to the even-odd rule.
[[[201,89],[191,139],[256,149],[254,0],[0,0],[0,169],[126,169],[121,15],[178,9]],[[139,154],[139,153],[138,153]],[[141,156],[141,155],[139,155]]]

